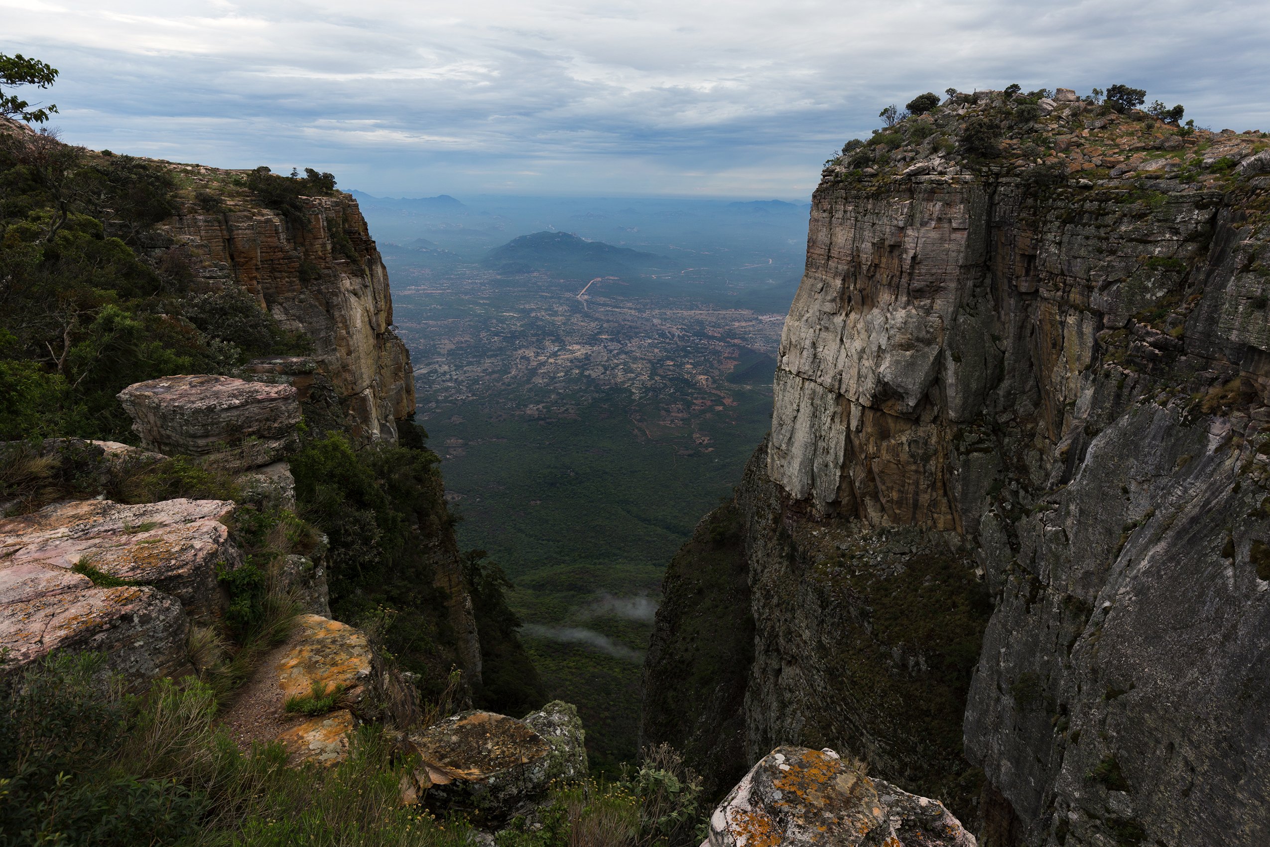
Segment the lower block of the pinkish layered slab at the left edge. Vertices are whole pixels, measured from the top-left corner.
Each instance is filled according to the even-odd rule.
[[[0,674],[51,650],[105,654],[133,686],[192,672],[180,603],[147,585],[98,588],[46,561],[0,560]]]

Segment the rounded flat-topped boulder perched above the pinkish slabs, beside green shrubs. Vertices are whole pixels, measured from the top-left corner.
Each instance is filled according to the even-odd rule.
[[[239,467],[278,461],[298,443],[290,385],[227,376],[170,376],[130,385],[119,403],[149,450],[206,456]]]

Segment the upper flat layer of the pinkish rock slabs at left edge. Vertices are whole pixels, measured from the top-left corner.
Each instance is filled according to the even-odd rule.
[[[216,618],[225,607],[216,571],[237,568],[243,560],[221,523],[234,508],[229,500],[184,498],[137,505],[53,503],[0,519],[0,568],[39,564],[152,585],[177,598],[192,617]]]

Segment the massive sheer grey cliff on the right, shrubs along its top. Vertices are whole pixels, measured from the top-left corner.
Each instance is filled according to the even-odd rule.
[[[744,677],[749,761],[848,749],[988,843],[1259,844],[1270,141],[1048,94],[956,95],[828,163],[729,507],[751,599],[709,610],[754,658],[691,684]],[[671,723],[726,717],[662,658],[682,584],[645,737],[726,767]]]

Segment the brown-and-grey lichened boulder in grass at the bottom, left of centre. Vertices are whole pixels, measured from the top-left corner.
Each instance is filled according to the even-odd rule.
[[[483,824],[533,809],[555,780],[585,775],[582,740],[577,710],[559,701],[525,720],[467,711],[410,735],[423,759],[415,778],[428,804],[464,810]]]

